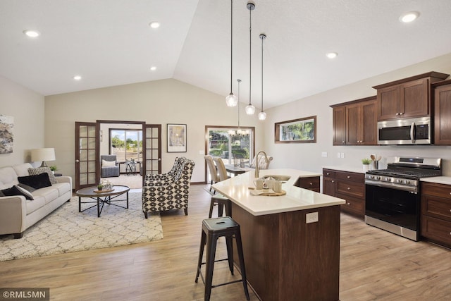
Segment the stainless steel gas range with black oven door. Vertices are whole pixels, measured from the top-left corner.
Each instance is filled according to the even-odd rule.
[[[442,175],[442,159],[395,157],[387,169],[365,174],[365,222],[419,240],[420,178]]]

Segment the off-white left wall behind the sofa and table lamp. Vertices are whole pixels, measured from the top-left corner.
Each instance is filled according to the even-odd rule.
[[[13,153],[0,166],[30,162],[30,149],[44,147],[44,96],[0,76],[0,114],[14,118]]]

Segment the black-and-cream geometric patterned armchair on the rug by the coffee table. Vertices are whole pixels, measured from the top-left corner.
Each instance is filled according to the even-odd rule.
[[[184,209],[188,215],[188,194],[194,161],[180,160],[173,178],[146,178],[142,187],[142,211],[147,212]]]

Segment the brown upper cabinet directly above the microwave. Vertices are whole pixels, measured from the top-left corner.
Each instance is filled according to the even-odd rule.
[[[429,72],[374,86],[378,121],[431,116],[431,83],[448,76]]]

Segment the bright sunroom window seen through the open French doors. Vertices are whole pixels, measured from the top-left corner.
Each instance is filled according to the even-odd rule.
[[[109,141],[118,161],[142,161],[142,130],[110,129]]]

